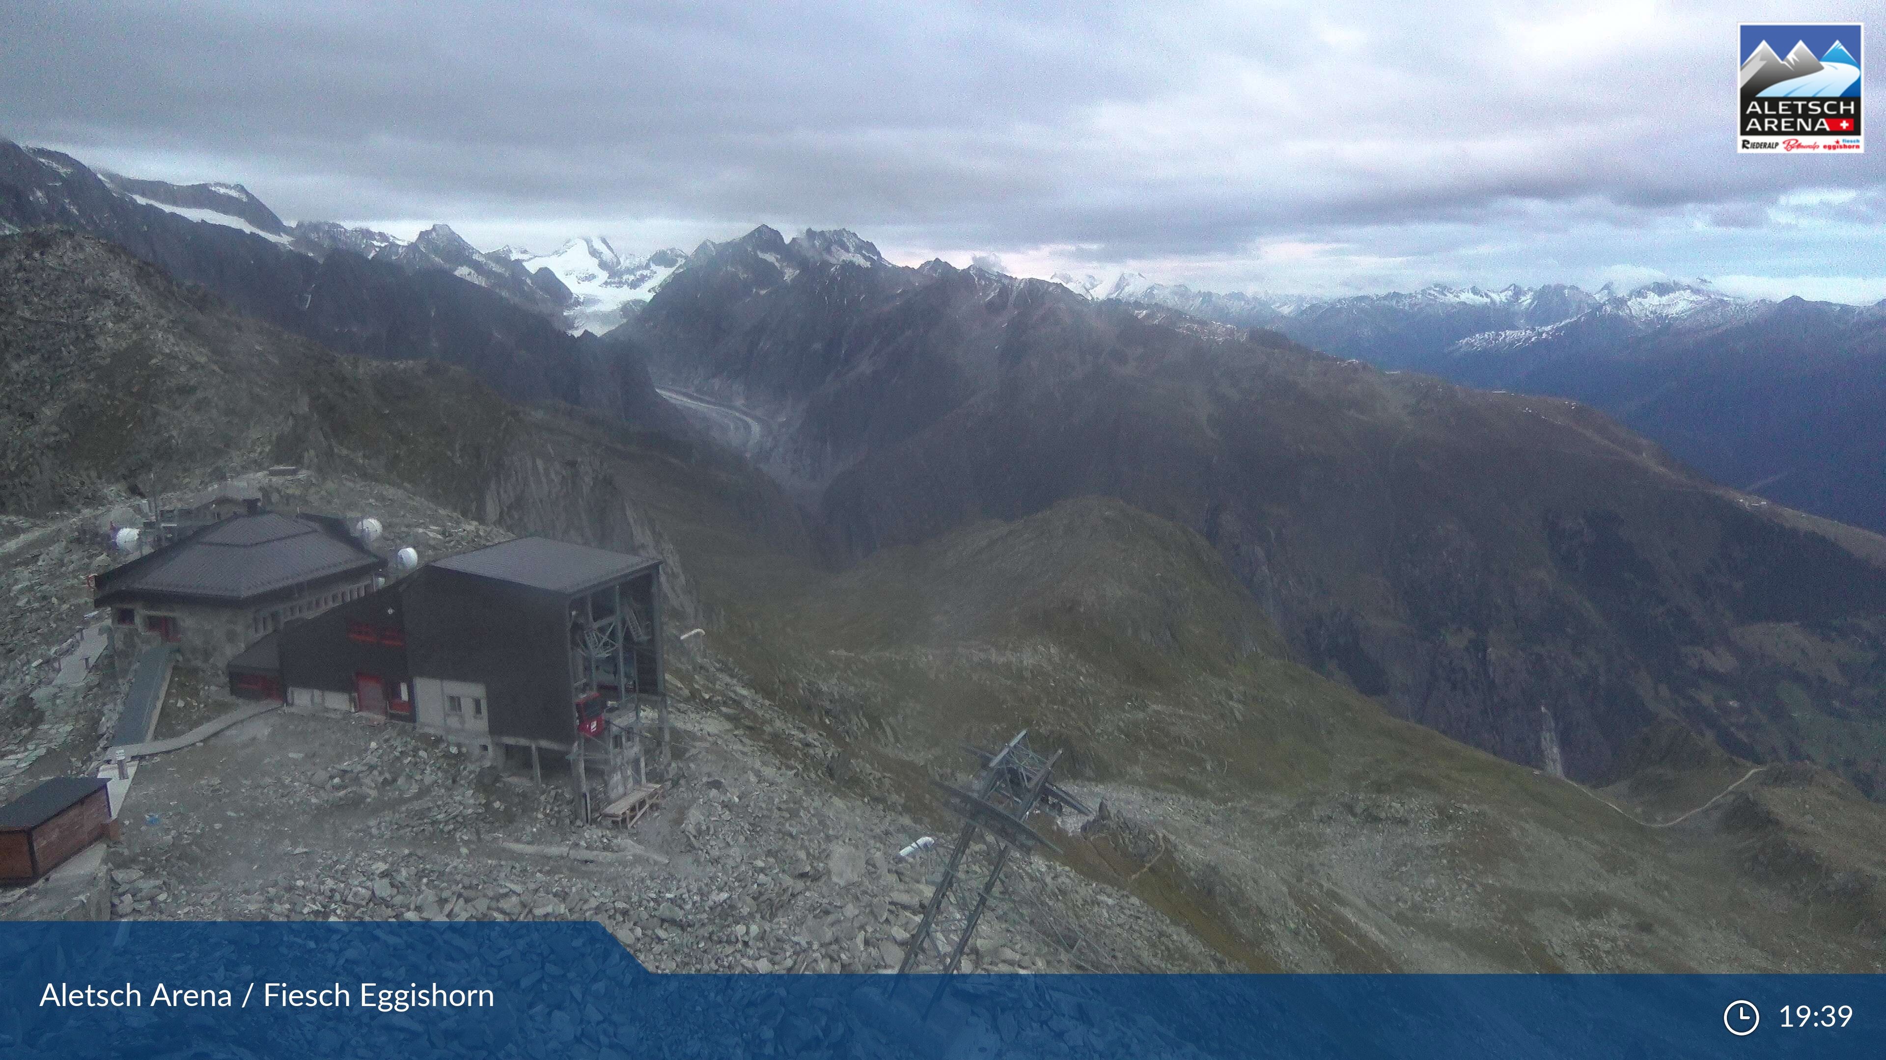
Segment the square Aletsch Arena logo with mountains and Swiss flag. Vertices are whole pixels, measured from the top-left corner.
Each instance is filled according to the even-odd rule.
[[[1741,57],[1737,151],[1863,151],[1860,23],[1743,23]]]

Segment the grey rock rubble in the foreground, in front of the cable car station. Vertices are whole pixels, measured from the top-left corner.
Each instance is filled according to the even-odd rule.
[[[713,685],[711,677],[696,683]],[[715,685],[717,687],[717,685]],[[140,773],[113,911],[162,919],[604,922],[643,964],[687,971],[896,968],[930,896],[920,834],[764,760],[719,711],[677,711],[677,781],[632,832],[575,822],[562,777],[505,773],[443,741],[351,715],[281,711]],[[622,854],[585,864],[504,843]],[[645,849],[666,856],[637,856]],[[1049,864],[1013,886],[1094,907],[1122,898]],[[1124,900],[1128,905],[1135,905]],[[1073,969],[1013,902],[992,907],[966,969]],[[1132,951],[1175,932],[1115,917]],[[1105,920],[1096,930],[1109,936]],[[1183,937],[1183,936],[1181,936]],[[1186,939],[1188,941],[1188,939]],[[1198,966],[1213,958],[1196,947]]]

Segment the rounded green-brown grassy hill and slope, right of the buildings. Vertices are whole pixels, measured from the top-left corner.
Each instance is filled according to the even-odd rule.
[[[1641,747],[1645,790],[1599,796],[1392,719],[1284,658],[1199,536],[1117,500],[886,549],[775,609],[756,670],[905,798],[964,771],[958,739],[1030,726],[1107,802],[1064,822],[1067,858],[1254,969],[1880,960],[1886,819],[1845,783],[1790,766],[1646,826],[1673,813],[1650,792],[1694,809],[1748,764]]]

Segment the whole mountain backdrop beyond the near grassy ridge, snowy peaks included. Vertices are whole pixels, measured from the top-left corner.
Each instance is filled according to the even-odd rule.
[[[1871,309],[1701,285],[1264,300],[1128,279],[1077,292],[898,266],[847,230],[768,226],[639,262],[602,240],[481,253],[445,226],[409,243],[290,226],[236,185],[132,183],[11,143],[0,223],[77,228],[236,313],[339,353],[455,364],[511,402],[690,439],[656,381],[734,406],[760,434],[754,462],[837,564],[1098,494],[1198,534],[1305,666],[1505,758],[1616,777],[1639,734],[1680,724],[1745,758],[1812,758],[1869,792],[1886,785],[1867,736],[1886,709],[1886,543],[1707,481],[1597,398],[1358,362],[1481,385],[1565,372],[1565,387],[1616,387],[1605,400],[1652,426],[1765,438],[1735,422],[1760,394],[1718,383],[1762,356],[1843,370],[1871,349],[1852,345],[1875,334]],[[100,260],[57,240],[41,251],[13,279],[36,298],[66,283],[43,262]],[[571,302],[602,311],[641,294],[605,336],[566,334]],[[1860,379],[1846,385],[1863,398]],[[1763,422],[1828,415],[1795,404],[1809,392],[1782,392]],[[17,415],[43,419],[43,404]],[[13,458],[51,466],[38,496],[79,489],[60,477],[60,430]],[[1133,636],[1167,643],[1173,628],[1149,613]]]

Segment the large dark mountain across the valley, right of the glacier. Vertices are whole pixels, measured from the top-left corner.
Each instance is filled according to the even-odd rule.
[[[1571,402],[828,251],[854,241],[702,247],[611,336],[771,417],[762,460],[849,555],[1115,496],[1211,541],[1298,658],[1505,758],[1554,747],[1607,777],[1667,717],[1886,775],[1878,538],[1718,489]]]

